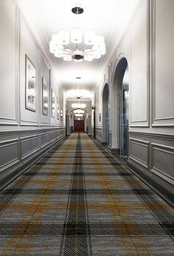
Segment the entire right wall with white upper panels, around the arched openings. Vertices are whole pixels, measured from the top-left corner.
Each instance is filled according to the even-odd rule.
[[[173,0],[140,1],[125,35],[108,60],[108,69],[102,74],[103,78],[108,75],[111,91],[110,148],[114,150],[119,148],[115,73],[119,61],[127,59],[130,78],[128,164],[136,167],[134,170],[139,170],[142,178],[160,184],[170,200],[174,185],[173,13]],[[101,95],[103,83],[102,80],[98,85],[97,95]],[[101,97],[97,98],[96,106],[100,112]]]

